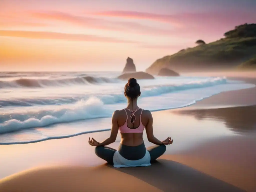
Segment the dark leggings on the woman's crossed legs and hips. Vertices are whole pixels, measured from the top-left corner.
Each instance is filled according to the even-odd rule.
[[[144,150],[145,148],[145,150]],[[166,151],[165,145],[155,145],[146,149],[144,143],[142,145],[136,147],[130,147],[126,145],[120,144],[118,151],[119,153],[126,159],[129,160],[138,160],[144,157],[146,154],[146,150],[150,153],[151,163],[156,161],[156,159],[162,156]],[[104,159],[110,165],[113,165],[113,157],[115,149],[106,146],[98,146],[95,148],[95,153],[98,157]],[[136,155],[136,156],[135,156]],[[137,157],[137,159],[136,159]]]

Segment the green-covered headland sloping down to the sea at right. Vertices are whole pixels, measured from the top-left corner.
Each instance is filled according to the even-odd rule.
[[[256,24],[244,24],[224,34],[218,41],[188,48],[158,59],[146,72],[157,74],[162,68],[175,71],[232,69],[256,54]]]

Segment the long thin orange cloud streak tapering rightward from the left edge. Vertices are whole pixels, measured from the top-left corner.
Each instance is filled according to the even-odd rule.
[[[0,36],[4,37],[23,37],[30,39],[58,39],[58,40],[70,40],[70,41],[98,41],[98,42],[110,42],[110,43],[139,43],[137,41],[120,40],[110,37],[100,37],[95,35],[83,35],[83,34],[66,34],[66,33],[54,33],[54,32],[41,32],[41,31],[11,31],[0,30]]]

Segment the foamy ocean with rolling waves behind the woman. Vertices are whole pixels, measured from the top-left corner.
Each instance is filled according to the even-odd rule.
[[[0,144],[24,144],[106,131],[115,110],[126,107],[121,72],[1,72]],[[253,84],[226,77],[155,77],[137,80],[140,108],[182,108]],[[68,126],[82,121],[83,126]],[[58,126],[56,126],[58,125]],[[61,125],[61,126],[60,126]]]

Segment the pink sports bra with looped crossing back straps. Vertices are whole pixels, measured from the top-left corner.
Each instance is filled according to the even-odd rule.
[[[126,110],[128,110],[128,111],[130,111],[130,112],[132,113],[132,115],[131,115],[131,117],[130,117],[130,122],[131,122],[131,120],[132,120],[132,118],[133,118],[133,122],[131,122],[131,123],[133,124],[133,123],[135,123],[135,121],[136,121],[136,117],[135,117],[135,114],[134,114],[134,113],[136,113],[139,109],[140,109],[140,108],[138,108],[138,109],[135,110],[135,111],[132,111],[132,110],[130,110],[130,109],[128,109],[128,108],[124,109],[124,111],[125,111],[125,113],[126,113],[126,121],[125,121],[125,124],[124,124],[123,126],[119,127],[120,133],[143,133],[145,126],[144,126],[144,125],[142,124],[142,122],[141,122],[141,116],[140,116],[140,125],[139,125],[137,128],[132,129],[132,128],[129,128],[128,125],[127,125],[128,114],[127,114],[127,111],[126,111]],[[141,110],[141,115],[142,115],[142,111],[143,111],[143,110]]]

